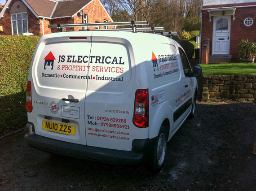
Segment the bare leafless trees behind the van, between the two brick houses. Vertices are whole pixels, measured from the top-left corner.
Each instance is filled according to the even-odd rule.
[[[150,21],[166,31],[200,30],[203,0],[102,0],[114,21]]]

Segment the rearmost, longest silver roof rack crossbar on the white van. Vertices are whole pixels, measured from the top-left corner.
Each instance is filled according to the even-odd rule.
[[[125,22],[94,22],[94,23],[76,23],[76,24],[54,24],[49,28],[67,28],[67,27],[84,27],[84,26],[136,26],[148,25],[148,21],[125,21]]]

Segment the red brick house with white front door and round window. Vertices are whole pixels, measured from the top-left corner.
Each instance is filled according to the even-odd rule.
[[[242,39],[256,39],[256,0],[203,0],[201,63],[238,62]]]

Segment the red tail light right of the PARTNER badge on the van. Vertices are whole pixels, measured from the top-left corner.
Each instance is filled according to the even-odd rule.
[[[148,127],[149,94],[148,89],[137,90],[135,93],[133,124],[137,127]]]

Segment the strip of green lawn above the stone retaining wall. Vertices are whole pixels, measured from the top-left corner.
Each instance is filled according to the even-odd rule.
[[[256,63],[201,64],[205,75],[256,74]]]

